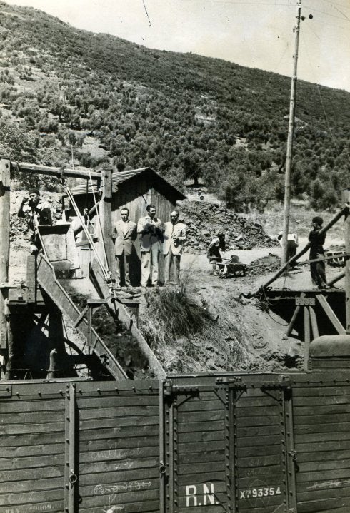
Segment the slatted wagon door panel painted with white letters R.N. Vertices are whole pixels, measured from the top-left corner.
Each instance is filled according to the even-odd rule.
[[[175,390],[166,407],[168,510],[227,511],[230,488],[227,403],[215,387]]]

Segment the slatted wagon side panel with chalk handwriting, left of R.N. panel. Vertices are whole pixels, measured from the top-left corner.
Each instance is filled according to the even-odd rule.
[[[158,384],[94,382],[76,405],[79,513],[159,513]]]

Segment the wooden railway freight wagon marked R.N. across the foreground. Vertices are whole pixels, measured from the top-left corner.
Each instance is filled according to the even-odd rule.
[[[0,513],[348,513],[349,342],[321,339],[310,372],[1,382]]]

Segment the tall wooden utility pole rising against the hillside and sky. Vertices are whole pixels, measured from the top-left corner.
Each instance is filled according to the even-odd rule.
[[[296,100],[296,69],[298,64],[298,49],[299,49],[299,31],[301,19],[301,0],[298,0],[296,5],[296,26],[294,27],[295,41],[294,41],[294,66],[293,75],[291,77],[291,100],[289,105],[289,124],[288,124],[288,138],[287,138],[287,151],[286,151],[286,174],[284,178],[284,213],[283,213],[283,235],[282,235],[282,258],[281,267],[283,267],[287,260],[287,239],[289,232],[289,210],[291,203],[291,154],[293,151],[293,132],[294,132],[294,116],[295,116],[295,100]]]

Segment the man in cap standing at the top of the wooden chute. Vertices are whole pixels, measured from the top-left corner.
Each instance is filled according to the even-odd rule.
[[[36,255],[41,248],[37,225],[51,225],[51,207],[40,197],[39,189],[30,189],[29,198],[24,196],[18,211],[19,218],[26,218],[31,235],[31,255]]]

